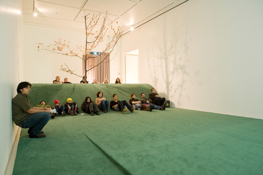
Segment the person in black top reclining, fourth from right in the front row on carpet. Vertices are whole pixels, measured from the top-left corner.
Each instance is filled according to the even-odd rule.
[[[128,107],[128,109],[129,109],[131,112],[134,112],[135,107],[130,106],[130,105],[128,104],[128,102],[125,101],[125,100],[122,100],[122,101],[117,100],[117,99],[118,99],[117,94],[114,93],[114,94],[112,95],[112,97],[113,97],[114,100],[112,100],[111,103],[110,103],[110,108],[111,108],[111,109],[114,109],[115,111],[121,111],[122,113],[124,113],[124,112],[126,112],[127,107]],[[126,106],[126,107],[125,107],[125,106]]]

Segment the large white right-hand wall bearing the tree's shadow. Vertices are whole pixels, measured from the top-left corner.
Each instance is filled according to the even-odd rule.
[[[125,34],[139,82],[179,108],[263,119],[263,1],[188,0]]]

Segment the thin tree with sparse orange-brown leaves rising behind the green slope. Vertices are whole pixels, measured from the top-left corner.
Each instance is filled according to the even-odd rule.
[[[97,15],[93,14],[91,17],[89,17],[89,15],[90,13],[87,15],[85,14],[85,16],[83,16],[85,19],[85,31],[86,31],[85,46],[77,45],[75,49],[71,49],[70,41],[66,41],[65,39],[63,40],[61,38],[59,38],[58,41],[55,41],[55,44],[53,45],[52,44],[44,45],[43,43],[38,44],[38,51],[47,50],[62,55],[77,56],[83,59],[85,64],[85,83],[87,83],[87,72],[93,69],[94,67],[100,65],[110,55],[114,47],[117,45],[117,42],[119,41],[120,37],[122,36],[125,27],[123,23],[118,24],[118,22],[116,22],[117,27],[112,26],[113,22],[107,17],[108,16],[107,13],[105,14],[105,16],[103,16],[102,21],[100,20],[101,13]],[[100,21],[101,24],[99,24]],[[97,26],[99,25],[100,28],[96,29],[98,28]],[[106,36],[107,32],[111,32],[112,35]],[[91,54],[91,51],[94,50],[99,45],[99,43],[101,43],[105,39],[109,39],[109,42],[107,42],[107,44],[105,45],[105,49],[102,50],[102,52],[100,52],[99,55]],[[82,54],[80,55],[80,53],[85,54],[85,58],[84,56],[82,57]],[[100,61],[96,65],[93,64],[91,67],[87,67],[88,59],[96,58],[98,56],[101,56],[103,53],[107,53],[107,54],[105,54],[104,59],[102,61]],[[76,73],[74,73],[75,70],[71,70],[68,66],[63,67],[63,65],[61,65],[60,70],[77,75]],[[77,76],[82,77],[81,75],[77,75]]]

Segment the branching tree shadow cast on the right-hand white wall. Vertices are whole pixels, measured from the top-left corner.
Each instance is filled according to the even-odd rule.
[[[189,75],[187,72],[189,48],[187,45],[187,26],[185,25],[186,28],[183,31],[185,34],[179,34],[182,33],[179,31],[182,27],[177,27],[175,22],[172,26],[170,33],[166,32],[167,29],[159,28],[158,30],[162,34],[152,36],[153,43],[148,42],[146,47],[147,61],[154,87],[162,85],[162,91],[166,93],[167,97],[176,97],[176,101],[172,102],[175,103],[176,107],[179,107],[182,105],[180,100],[185,89],[186,77]],[[163,28],[165,27],[163,26]],[[159,79],[160,76],[161,80]],[[190,99],[187,94],[186,97]]]

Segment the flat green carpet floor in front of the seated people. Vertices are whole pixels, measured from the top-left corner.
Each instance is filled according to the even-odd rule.
[[[13,174],[263,174],[262,126],[179,108],[59,116],[45,138],[22,129]]]

